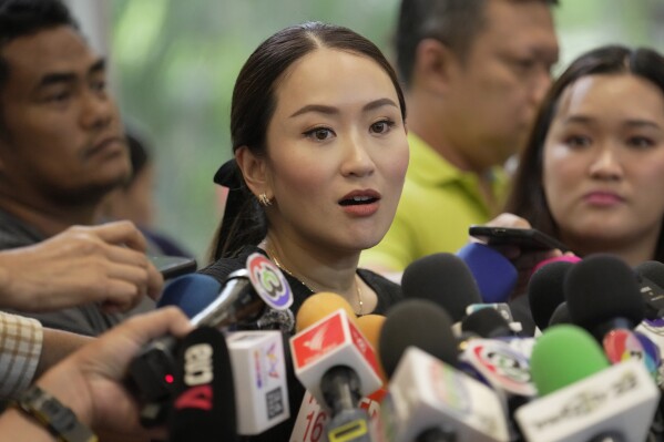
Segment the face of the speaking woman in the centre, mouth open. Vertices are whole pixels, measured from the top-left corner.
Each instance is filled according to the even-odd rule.
[[[366,56],[318,49],[277,81],[275,97],[266,161],[270,229],[333,253],[376,245],[392,222],[408,166],[387,73]]]

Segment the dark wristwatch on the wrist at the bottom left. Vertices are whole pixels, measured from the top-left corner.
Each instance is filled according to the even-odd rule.
[[[81,423],[70,408],[38,386],[21,393],[12,405],[35,419],[59,442],[98,442],[92,430]]]

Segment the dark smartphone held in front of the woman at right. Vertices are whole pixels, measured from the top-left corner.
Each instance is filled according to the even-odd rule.
[[[535,228],[470,226],[468,234],[489,246],[514,245],[530,250],[558,248],[563,253],[570,251],[568,246]]]

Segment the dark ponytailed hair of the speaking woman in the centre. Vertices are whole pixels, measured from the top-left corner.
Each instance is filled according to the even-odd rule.
[[[395,85],[401,117],[406,120],[406,101],[397,74],[374,43],[348,28],[307,22],[286,28],[265,40],[239,71],[231,105],[233,153],[241,146],[247,146],[258,157],[266,155],[267,126],[277,105],[277,80],[294,62],[318,48],[348,51],[378,63]],[[267,234],[267,218],[235,160],[225,163],[214,181],[229,191],[211,250],[212,260],[217,260],[235,256],[244,246],[263,240]]]

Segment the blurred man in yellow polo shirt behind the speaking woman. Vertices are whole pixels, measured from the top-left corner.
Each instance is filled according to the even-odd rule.
[[[392,227],[362,254],[402,271],[457,251],[496,216],[502,165],[525,143],[558,61],[556,0],[402,0],[397,66],[407,92],[410,164]]]

